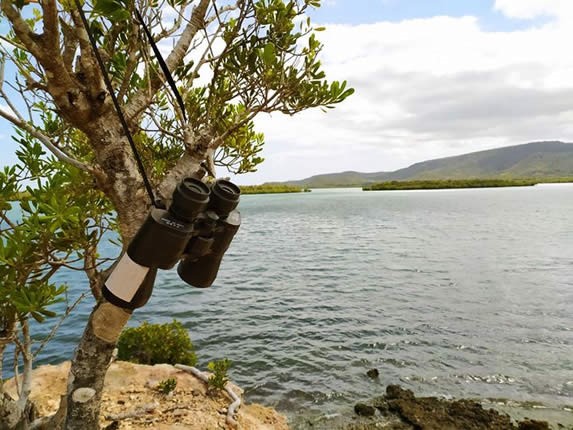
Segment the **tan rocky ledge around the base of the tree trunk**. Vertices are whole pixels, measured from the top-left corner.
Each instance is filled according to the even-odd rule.
[[[31,400],[39,415],[50,415],[66,392],[70,363],[40,366],[34,370]],[[177,386],[168,394],[157,389],[159,382],[175,378]],[[14,395],[14,383],[5,388]],[[239,396],[242,390],[233,386]],[[227,429],[226,413],[233,400],[226,393],[207,393],[195,376],[168,364],[112,363],[105,378],[100,422],[109,429],[205,430]],[[286,418],[270,408],[243,404],[236,420],[242,430],[287,430]]]

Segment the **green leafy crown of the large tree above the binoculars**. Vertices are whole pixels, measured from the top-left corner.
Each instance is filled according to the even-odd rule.
[[[183,16],[196,3],[188,0],[148,4],[97,0],[93,3],[90,30],[108,60],[107,72],[118,88],[118,96],[126,104],[147,90],[161,74],[156,61],[148,54],[141,29],[131,24],[136,22],[133,8],[138,7],[147,17],[147,25],[155,29],[157,42],[175,43],[174,34],[182,29],[184,20],[176,19],[169,27],[166,10],[176,8]],[[20,8],[24,4],[26,2]],[[64,46],[71,46],[74,39],[70,30],[75,25],[71,13],[75,6],[72,1],[62,5],[62,41]],[[184,151],[182,143],[188,144],[189,140],[186,131],[188,135],[191,131],[195,136],[202,133],[211,136],[216,165],[234,173],[255,171],[263,161],[264,144],[263,134],[254,127],[255,116],[271,112],[292,115],[311,107],[332,108],[353,93],[345,81],[328,82],[325,78],[319,59],[322,44],[316,36],[324,28],[314,27],[307,15],[308,8],[319,6],[317,0],[213,3],[210,16],[205,20],[205,31],[198,33],[193,44],[197,52],[189,61],[181,61],[173,67],[185,100],[190,130],[182,123],[181,113],[173,107],[173,97],[164,87],[156,93],[138,124],[140,149],[156,179],[173,167]],[[29,21],[31,27],[40,26],[43,16],[35,13]],[[37,86],[43,87],[44,71],[28,52],[20,49],[14,34],[9,34],[7,39],[13,40],[16,48],[5,50],[5,55],[22,74],[25,72],[26,85],[38,77]],[[204,46],[207,49],[201,52],[199,47]],[[26,85],[22,85],[23,92]],[[31,104],[37,104],[44,113],[49,110],[49,97],[41,92],[31,96]],[[54,134],[50,127],[44,131]],[[156,160],[159,166],[155,166]]]

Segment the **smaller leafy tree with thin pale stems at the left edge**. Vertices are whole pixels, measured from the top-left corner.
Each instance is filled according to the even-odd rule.
[[[103,234],[111,229],[111,207],[101,192],[89,186],[84,172],[55,157],[46,157],[41,145],[27,133],[18,132],[15,140],[19,145],[18,162],[0,171],[0,428],[3,429],[33,419],[34,407],[29,401],[33,361],[86,295],[83,293],[70,303],[66,286],[54,283],[53,276],[62,268],[89,272],[104,263],[105,259],[95,261],[86,256],[93,255]],[[69,200],[75,205],[69,205]],[[18,207],[18,216],[14,215],[13,206]],[[31,321],[53,321],[56,313],[52,308],[59,302],[66,302],[64,314],[46,338],[33,347]],[[1,377],[4,352],[10,344],[14,348],[16,401],[4,394]],[[23,369],[21,379],[19,367]]]

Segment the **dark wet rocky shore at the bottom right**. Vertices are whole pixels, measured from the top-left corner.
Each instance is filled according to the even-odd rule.
[[[573,430],[573,405],[416,396],[399,385],[339,413],[287,417],[292,430]]]

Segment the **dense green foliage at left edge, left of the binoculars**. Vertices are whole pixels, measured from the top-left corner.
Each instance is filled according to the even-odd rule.
[[[6,321],[43,322],[66,292],[52,276],[97,247],[110,209],[100,192],[83,185],[84,172],[47,156],[25,133],[15,140],[18,163],[0,171],[2,312]]]

